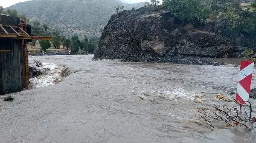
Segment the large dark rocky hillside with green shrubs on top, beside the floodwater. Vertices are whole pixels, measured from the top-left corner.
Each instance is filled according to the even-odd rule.
[[[252,5],[225,2],[207,8],[193,4],[175,6],[170,1],[154,9],[114,14],[102,32],[94,59],[221,65],[206,58],[243,57],[248,49],[256,51],[256,11],[254,7],[243,10]]]

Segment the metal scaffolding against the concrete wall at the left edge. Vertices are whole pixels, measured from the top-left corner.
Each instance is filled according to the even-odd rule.
[[[0,50],[2,52],[5,56],[0,58],[0,77],[5,78],[0,79],[0,95],[17,92],[13,50]]]

